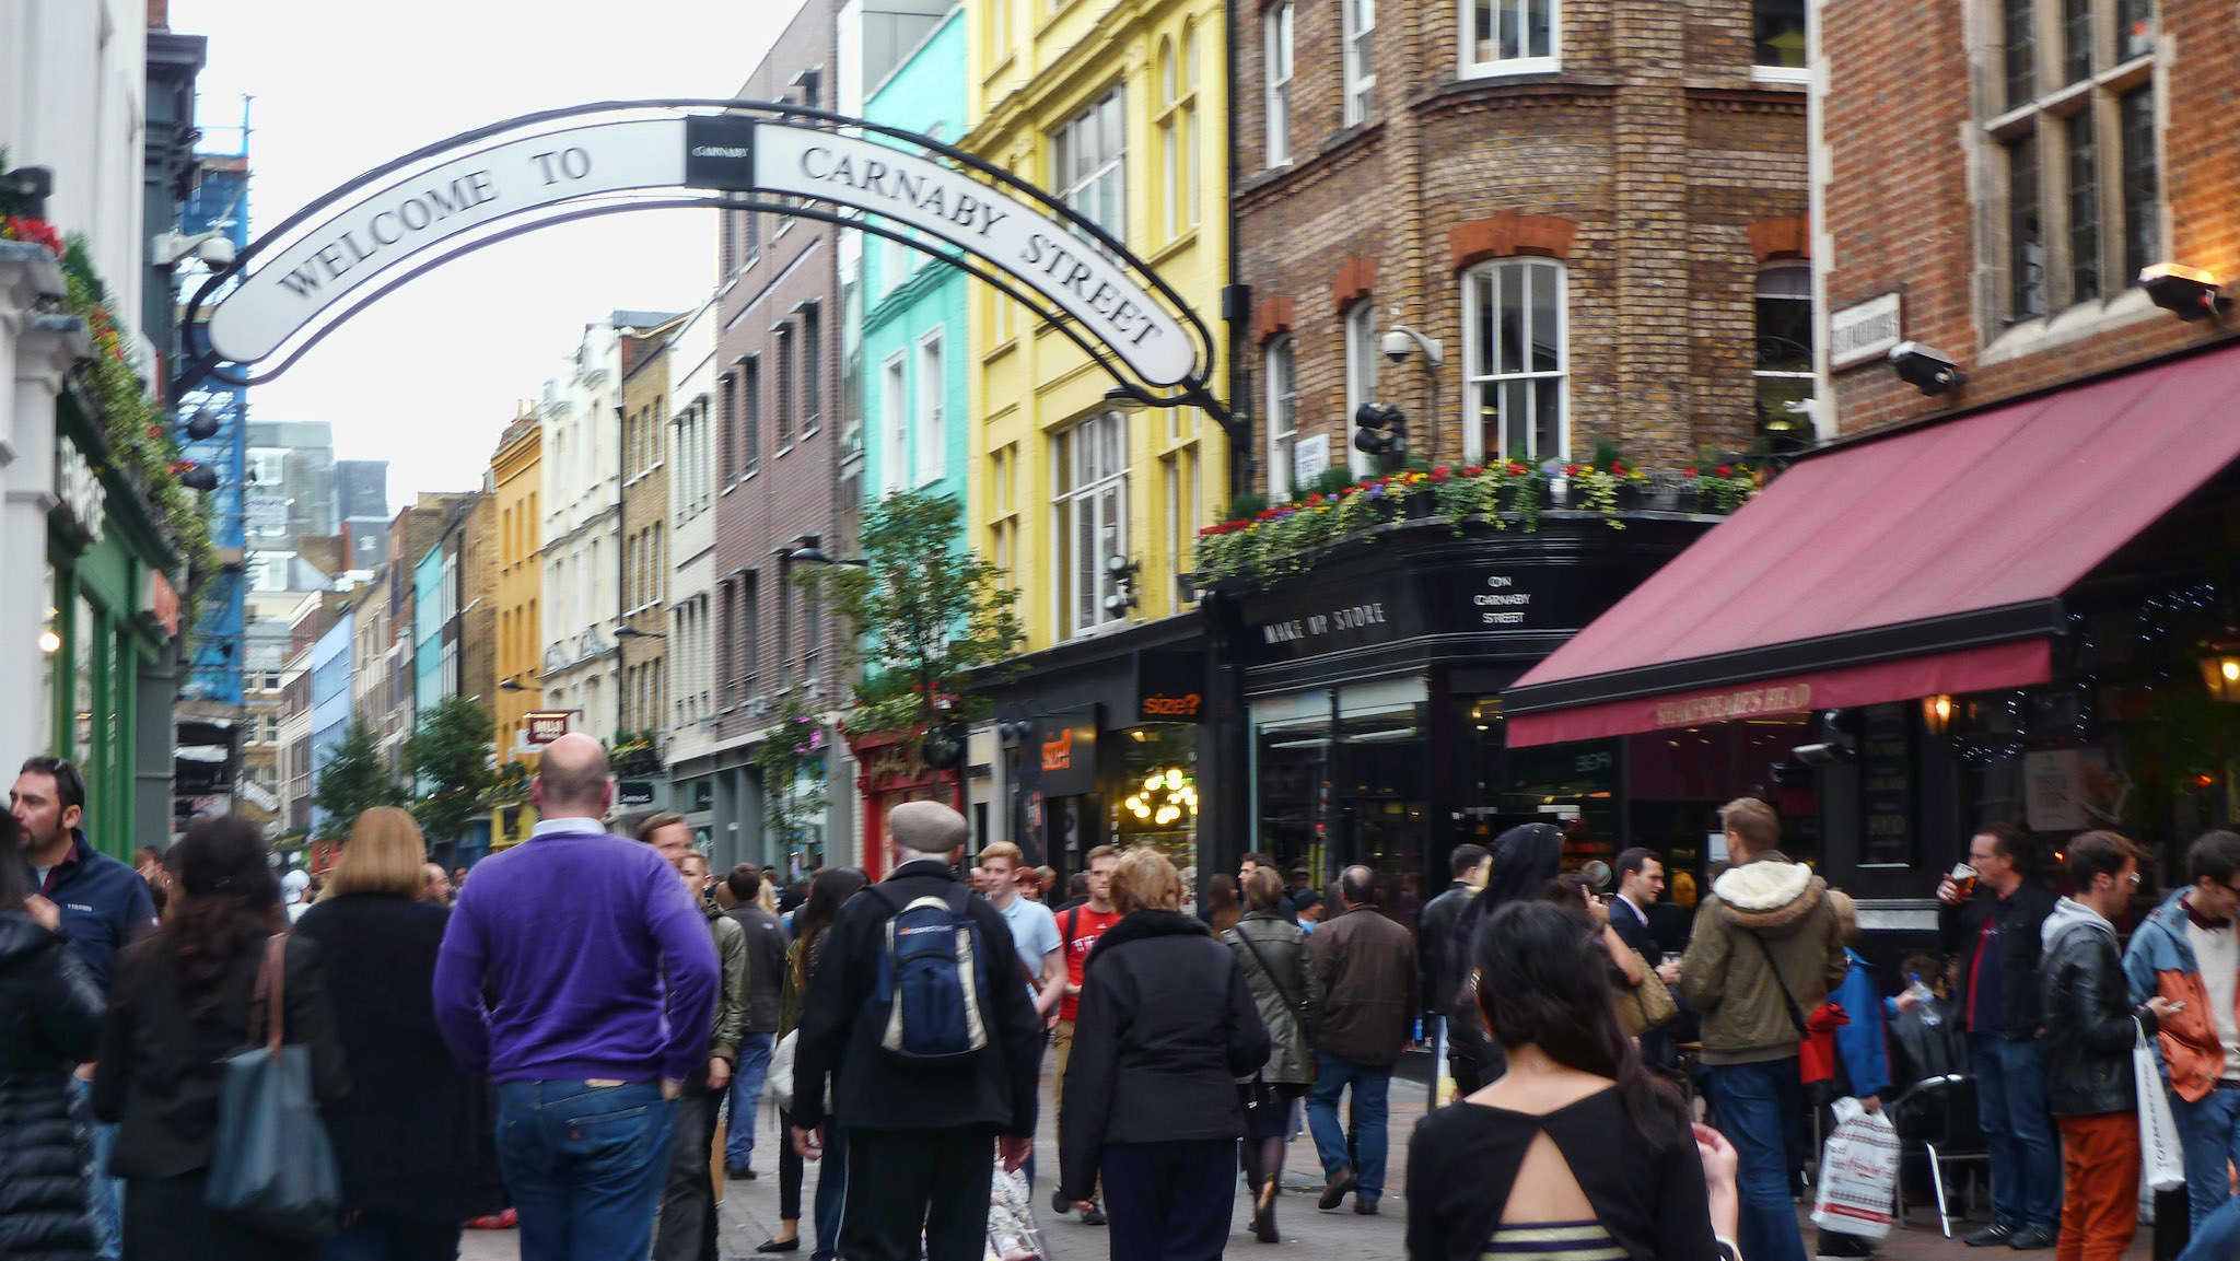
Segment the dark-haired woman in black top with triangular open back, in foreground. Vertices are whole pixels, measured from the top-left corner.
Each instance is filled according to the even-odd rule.
[[[1467,963],[1508,1073],[1416,1127],[1409,1259],[1732,1259],[1734,1149],[1642,1066],[1581,916],[1499,907]]]

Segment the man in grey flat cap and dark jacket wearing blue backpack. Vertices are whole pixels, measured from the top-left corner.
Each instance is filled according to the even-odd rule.
[[[956,878],[963,815],[905,802],[887,835],[898,865],[840,909],[802,1006],[793,1145],[847,1129],[849,1261],[979,1261],[992,1158],[1033,1147],[1042,1021],[1004,914]]]

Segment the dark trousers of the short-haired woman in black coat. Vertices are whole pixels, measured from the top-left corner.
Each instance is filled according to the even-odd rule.
[[[1236,1207],[1236,1140],[1116,1142],[1098,1160],[1113,1261],[1216,1261]]]

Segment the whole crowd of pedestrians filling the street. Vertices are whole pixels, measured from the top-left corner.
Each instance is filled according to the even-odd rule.
[[[2059,896],[2034,838],[1987,826],[1935,889],[1944,954],[1882,986],[1852,900],[1749,797],[1691,923],[1658,853],[1620,853],[1604,896],[1550,824],[1456,847],[1429,903],[1369,867],[1315,891],[1266,853],[1192,898],[1151,847],[1091,849],[1057,900],[1010,842],[968,860],[939,802],[889,813],[887,878],[820,871],[786,918],[775,871],[710,871],[681,815],[609,833],[589,737],[547,746],[531,797],[531,840],[470,876],[372,809],[311,885],[240,818],[105,858],[76,768],[27,762],[0,820],[0,1257],[452,1259],[464,1223],[517,1221],[524,1261],[712,1261],[768,1095],[759,1252],[1028,1261],[1048,1055],[1051,1209],[1109,1227],[1116,1261],[1205,1261],[1239,1185],[1245,1230],[1281,1241],[1301,1133],[1317,1207],[1380,1214],[1393,1071],[1445,1044],[1456,1106],[1409,1140],[1413,1259],[1803,1261],[1814,1111],[1888,1115],[1962,1073],[1994,1205],[1967,1243],[2112,1261],[2155,1102],[2141,1042],[2186,1261],[2240,1252],[2233,833],[2191,844],[2126,943],[2128,840],[2065,838]],[[267,1030],[302,1050],[332,1145],[318,1230],[213,1207],[226,1062]]]

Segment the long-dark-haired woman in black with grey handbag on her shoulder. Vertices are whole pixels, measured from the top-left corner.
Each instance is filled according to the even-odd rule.
[[[249,1044],[264,943],[287,932],[258,824],[224,815],[170,851],[164,927],[125,950],[101,1026],[94,1115],[119,1122],[110,1174],[125,1180],[125,1261],[309,1261],[316,1245],[249,1230],[202,1203],[224,1059]],[[318,945],[289,938],[282,1035],[311,1048],[320,1104],[349,1091]]]

